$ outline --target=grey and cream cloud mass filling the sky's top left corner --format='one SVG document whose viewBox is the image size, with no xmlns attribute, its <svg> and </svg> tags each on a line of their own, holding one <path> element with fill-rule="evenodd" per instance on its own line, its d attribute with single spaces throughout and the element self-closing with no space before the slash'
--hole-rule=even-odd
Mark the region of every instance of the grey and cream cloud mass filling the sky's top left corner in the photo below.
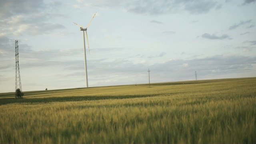
<svg viewBox="0 0 256 144">
<path fill-rule="evenodd" d="M 56 6 L 61 2 L 44 3 L 42 0 L 8 0 L 0 2 L 0 33 L 4 35 L 38 35 L 51 34 L 54 30 L 65 29 L 62 24 L 51 22 L 52 18 L 60 17 L 54 14 Z M 3 35 L 3 34 L 2 34 Z"/>
</svg>

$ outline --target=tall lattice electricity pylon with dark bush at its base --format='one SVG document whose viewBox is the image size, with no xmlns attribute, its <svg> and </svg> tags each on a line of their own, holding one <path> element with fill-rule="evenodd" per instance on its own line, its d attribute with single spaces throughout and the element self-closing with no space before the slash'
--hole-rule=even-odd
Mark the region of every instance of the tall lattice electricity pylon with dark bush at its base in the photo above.
<svg viewBox="0 0 256 144">
<path fill-rule="evenodd" d="M 15 57 L 16 57 L 16 80 L 15 80 L 15 98 L 22 98 L 22 88 L 20 81 L 20 66 L 19 66 L 19 46 L 18 40 L 15 40 Z"/>
</svg>

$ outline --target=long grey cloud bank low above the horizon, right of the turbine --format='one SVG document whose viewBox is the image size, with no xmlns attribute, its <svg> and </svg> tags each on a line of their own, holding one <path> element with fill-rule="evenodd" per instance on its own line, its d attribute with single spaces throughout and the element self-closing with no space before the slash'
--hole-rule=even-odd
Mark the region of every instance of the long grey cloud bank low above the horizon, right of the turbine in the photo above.
<svg viewBox="0 0 256 144">
<path fill-rule="evenodd" d="M 145 65 L 146 60 L 143 59 L 140 64 L 102 64 L 100 72 L 104 71 L 106 76 L 108 74 L 114 73 L 116 78 L 119 74 L 127 76 L 127 74 L 132 73 L 136 79 L 131 80 L 128 77 L 125 81 L 127 83 L 133 84 L 143 83 L 141 78 L 143 78 L 144 75 L 140 77 L 138 76 L 140 74 L 145 74 L 146 78 L 145 72 L 148 70 L 148 68 L 151 70 L 150 75 L 152 74 L 152 82 L 163 82 L 194 79 L 195 70 L 198 72 L 200 79 L 209 79 L 209 76 L 215 76 L 216 78 L 226 74 L 237 74 L 236 76 L 240 77 L 240 72 L 251 72 L 251 74 L 254 73 L 253 70 L 255 68 L 252 66 L 253 62 L 256 62 L 256 57 L 216 55 L 192 60 L 169 60 L 164 63 L 155 63 L 148 66 Z M 97 66 L 95 66 L 95 68 L 96 67 Z M 96 75 L 98 74 L 98 72 L 92 73 L 96 73 Z M 117 78 L 116 82 L 118 83 L 119 80 L 120 79 Z"/>
</svg>

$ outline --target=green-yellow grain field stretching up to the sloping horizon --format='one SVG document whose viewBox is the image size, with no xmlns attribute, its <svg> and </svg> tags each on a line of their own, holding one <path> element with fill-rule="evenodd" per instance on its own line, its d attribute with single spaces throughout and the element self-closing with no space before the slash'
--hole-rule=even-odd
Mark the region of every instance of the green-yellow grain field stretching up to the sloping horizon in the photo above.
<svg viewBox="0 0 256 144">
<path fill-rule="evenodd" d="M 0 94 L 5 143 L 256 143 L 256 78 Z"/>
</svg>

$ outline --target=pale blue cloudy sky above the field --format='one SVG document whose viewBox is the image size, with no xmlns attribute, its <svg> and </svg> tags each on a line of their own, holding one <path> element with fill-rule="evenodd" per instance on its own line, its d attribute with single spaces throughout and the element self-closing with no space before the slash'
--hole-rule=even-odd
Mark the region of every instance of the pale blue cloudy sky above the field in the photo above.
<svg viewBox="0 0 256 144">
<path fill-rule="evenodd" d="M 256 76 L 256 0 L 1 0 L 0 92 Z"/>
</svg>

